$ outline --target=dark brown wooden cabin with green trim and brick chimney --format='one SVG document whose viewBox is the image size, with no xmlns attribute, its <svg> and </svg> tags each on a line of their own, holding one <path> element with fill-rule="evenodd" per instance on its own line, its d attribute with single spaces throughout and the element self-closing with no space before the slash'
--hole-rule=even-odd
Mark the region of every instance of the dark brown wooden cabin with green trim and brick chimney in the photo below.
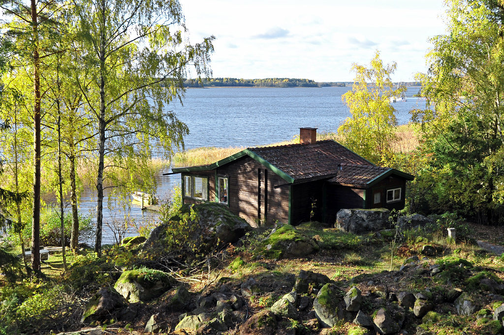
<svg viewBox="0 0 504 335">
<path fill-rule="evenodd" d="M 172 171 L 181 174 L 184 204 L 220 203 L 253 225 L 296 225 L 310 217 L 332 225 L 344 208 L 400 210 L 406 181 L 413 180 L 336 141 L 317 142 L 317 128 L 300 128 L 299 144 L 247 148 L 213 164 Z"/>
</svg>

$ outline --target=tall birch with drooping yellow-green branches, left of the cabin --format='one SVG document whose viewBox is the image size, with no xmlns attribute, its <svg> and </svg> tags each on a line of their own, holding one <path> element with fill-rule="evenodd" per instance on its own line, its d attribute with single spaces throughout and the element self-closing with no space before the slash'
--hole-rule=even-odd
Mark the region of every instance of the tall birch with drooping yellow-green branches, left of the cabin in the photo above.
<svg viewBox="0 0 504 335">
<path fill-rule="evenodd" d="M 154 147 L 169 155 L 183 145 L 187 126 L 166 110 L 183 96 L 183 80 L 209 75 L 213 36 L 187 39 L 176 0 L 86 0 L 75 3 L 87 74 L 76 78 L 94 119 L 99 145 L 95 251 L 101 253 L 103 190 L 107 166 L 129 166 L 148 158 Z M 122 185 L 124 186 L 124 185 Z"/>
</svg>

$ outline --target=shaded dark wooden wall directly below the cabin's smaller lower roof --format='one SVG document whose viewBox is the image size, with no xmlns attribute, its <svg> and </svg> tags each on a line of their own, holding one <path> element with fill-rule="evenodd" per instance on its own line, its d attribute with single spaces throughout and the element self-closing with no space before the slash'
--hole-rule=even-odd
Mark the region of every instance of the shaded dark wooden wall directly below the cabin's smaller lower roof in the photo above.
<svg viewBox="0 0 504 335">
<path fill-rule="evenodd" d="M 327 203 L 324 222 L 334 225 L 336 222 L 336 213 L 341 209 L 363 208 L 364 189 L 329 183 L 327 183 L 326 187 Z"/>
</svg>

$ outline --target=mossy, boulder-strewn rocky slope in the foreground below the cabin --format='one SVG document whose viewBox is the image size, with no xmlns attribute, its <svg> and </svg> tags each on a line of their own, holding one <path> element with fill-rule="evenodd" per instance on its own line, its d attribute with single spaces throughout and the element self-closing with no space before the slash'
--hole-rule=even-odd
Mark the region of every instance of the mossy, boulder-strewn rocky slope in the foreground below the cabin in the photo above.
<svg viewBox="0 0 504 335">
<path fill-rule="evenodd" d="M 78 332 L 503 334 L 504 256 L 414 226 L 279 226 L 230 244 L 200 280 L 124 271 Z"/>
</svg>

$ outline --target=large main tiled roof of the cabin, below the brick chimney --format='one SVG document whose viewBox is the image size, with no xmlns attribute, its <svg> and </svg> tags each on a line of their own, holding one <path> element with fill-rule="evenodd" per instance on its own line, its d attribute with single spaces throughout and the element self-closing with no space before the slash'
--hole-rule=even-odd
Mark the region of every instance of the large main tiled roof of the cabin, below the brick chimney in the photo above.
<svg viewBox="0 0 504 335">
<path fill-rule="evenodd" d="M 371 165 L 359 155 L 332 140 L 314 144 L 248 148 L 248 150 L 294 178 L 295 182 L 336 176 L 341 172 L 339 170 L 341 163 Z"/>
</svg>

